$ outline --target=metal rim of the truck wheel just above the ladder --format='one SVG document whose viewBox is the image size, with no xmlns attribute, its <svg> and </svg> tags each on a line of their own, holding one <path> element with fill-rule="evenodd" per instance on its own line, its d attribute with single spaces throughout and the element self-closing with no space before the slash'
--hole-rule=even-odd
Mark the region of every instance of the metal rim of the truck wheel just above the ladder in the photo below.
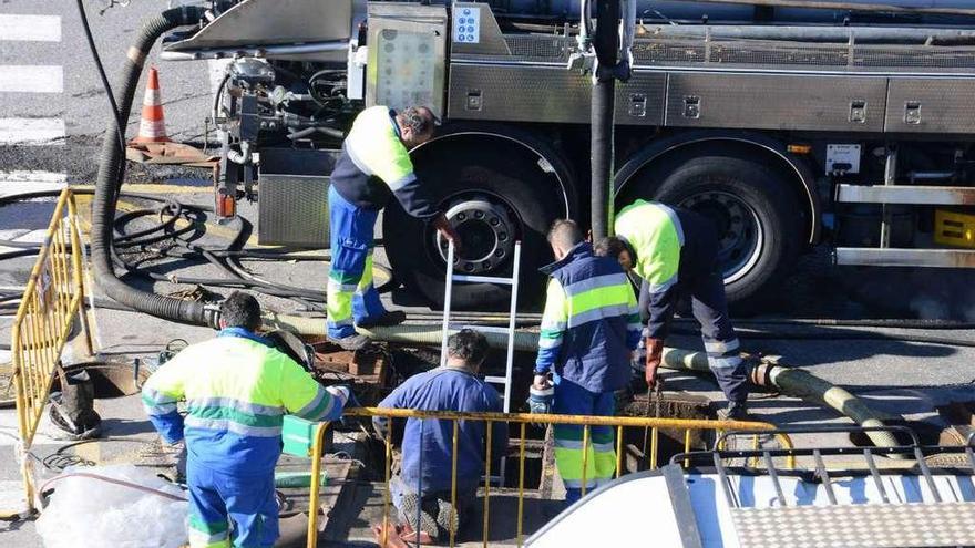
<svg viewBox="0 0 975 548">
<path fill-rule="evenodd" d="M 483 275 L 497 269 L 514 254 L 519 221 L 514 210 L 501 198 L 488 194 L 468 194 L 445 203 L 445 216 L 463 244 L 454 256 L 454 270 Z M 447 240 L 433 235 L 441 260 L 447 262 Z"/>
</svg>

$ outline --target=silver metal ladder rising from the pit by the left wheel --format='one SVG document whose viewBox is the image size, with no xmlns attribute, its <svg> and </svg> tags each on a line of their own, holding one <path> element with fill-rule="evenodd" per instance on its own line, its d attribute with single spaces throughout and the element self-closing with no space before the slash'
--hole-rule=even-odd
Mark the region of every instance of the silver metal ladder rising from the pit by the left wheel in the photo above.
<svg viewBox="0 0 975 548">
<path fill-rule="evenodd" d="M 444 275 L 444 290 L 443 290 L 443 328 L 442 332 L 442 341 L 440 345 L 440 365 L 447 365 L 447 340 L 450 338 L 450 334 L 460 329 L 473 329 L 483 333 L 499 333 L 507 337 L 507 349 L 505 353 L 505 362 L 504 362 L 504 375 L 485 375 L 484 382 L 494 385 L 496 387 L 501 387 L 499 392 L 501 392 L 502 397 L 502 411 L 504 413 L 511 412 L 511 384 L 512 384 L 512 375 L 514 369 L 514 330 L 517 321 L 517 296 L 519 296 L 519 276 L 521 273 L 521 258 L 522 258 L 522 242 L 515 241 L 514 244 L 514 256 L 513 256 L 513 265 L 511 271 L 511 278 L 505 277 L 495 277 L 495 276 L 474 276 L 466 273 L 458 273 L 454 271 L 454 257 L 456 254 L 456 249 L 454 248 L 453 242 L 450 242 L 447 248 L 447 272 Z M 509 319 L 507 327 L 496 327 L 496 325 L 473 325 L 465 324 L 463 322 L 452 322 L 451 321 L 451 302 L 453 296 L 453 285 L 454 283 L 494 283 L 494 285 L 503 285 L 511 287 L 511 303 L 509 309 Z M 501 459 L 501 466 L 499 467 L 499 475 L 491 476 L 492 482 L 503 482 L 504 478 L 504 468 L 505 468 L 505 459 Z"/>
</svg>

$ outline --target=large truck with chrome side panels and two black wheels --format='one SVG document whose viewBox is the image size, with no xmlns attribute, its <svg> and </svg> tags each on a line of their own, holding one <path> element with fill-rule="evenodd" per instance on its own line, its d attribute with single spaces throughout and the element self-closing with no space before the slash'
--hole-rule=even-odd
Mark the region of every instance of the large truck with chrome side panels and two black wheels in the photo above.
<svg viewBox="0 0 975 548">
<path fill-rule="evenodd" d="M 327 176 L 372 104 L 444 118 L 412 154 L 464 237 L 459 270 L 510 275 L 521 240 L 533 272 L 550 258 L 548 224 L 586 218 L 579 2 L 206 3 L 162 55 L 227 64 L 211 114 L 224 142 L 217 209 L 233 215 L 259 180 L 261 241 L 326 245 Z M 773 294 L 821 240 L 840 263 L 975 267 L 975 18 L 855 3 L 864 10 L 637 2 L 634 74 L 616 92 L 617 205 L 656 198 L 714 218 L 740 304 Z M 432 229 L 390 207 L 383 237 L 399 278 L 442 299 Z M 541 278 L 525 276 L 524 294 L 537 294 Z M 488 285 L 455 296 L 506 299 Z"/>
</svg>

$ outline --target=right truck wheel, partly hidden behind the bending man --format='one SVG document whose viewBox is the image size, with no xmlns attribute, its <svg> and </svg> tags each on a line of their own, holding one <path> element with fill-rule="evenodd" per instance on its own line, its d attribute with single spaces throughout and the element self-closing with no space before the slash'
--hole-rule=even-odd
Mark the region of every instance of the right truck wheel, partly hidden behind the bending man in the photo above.
<svg viewBox="0 0 975 548">
<path fill-rule="evenodd" d="M 725 290 L 735 310 L 767 308 L 801 246 L 801 208 L 788 182 L 756 161 L 720 155 L 673 158 L 648 175 L 659 184 L 645 177 L 638 194 L 715 221 Z"/>
</svg>

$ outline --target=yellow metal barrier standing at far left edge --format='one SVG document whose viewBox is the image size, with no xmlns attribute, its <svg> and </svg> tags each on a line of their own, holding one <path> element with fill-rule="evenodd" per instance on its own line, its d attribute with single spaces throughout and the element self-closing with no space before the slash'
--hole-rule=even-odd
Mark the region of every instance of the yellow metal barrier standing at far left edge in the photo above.
<svg viewBox="0 0 975 548">
<path fill-rule="evenodd" d="M 21 473 L 28 510 L 33 509 L 33 478 L 27 455 L 75 314 L 80 317 L 91 351 L 90 331 L 82 311 L 84 281 L 76 214 L 74 195 L 65 188 L 54 206 L 43 246 L 11 327 L 17 420 L 23 456 Z"/>
</svg>

